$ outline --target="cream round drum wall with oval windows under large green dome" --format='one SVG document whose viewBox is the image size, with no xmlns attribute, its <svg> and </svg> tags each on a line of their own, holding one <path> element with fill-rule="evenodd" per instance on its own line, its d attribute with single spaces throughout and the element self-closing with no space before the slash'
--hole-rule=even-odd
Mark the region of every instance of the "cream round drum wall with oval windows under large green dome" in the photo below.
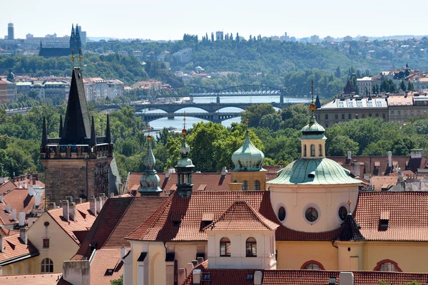
<svg viewBox="0 0 428 285">
<path fill-rule="evenodd" d="M 347 201 L 352 201 L 351 211 L 355 209 L 358 187 L 349 185 L 270 185 L 270 201 L 275 214 L 280 206 L 285 207 L 286 216 L 282 224 L 302 232 L 326 232 L 340 227 L 342 220 L 338 215 L 341 206 L 348 209 Z M 318 219 L 309 222 L 305 210 L 314 207 Z"/>
</svg>

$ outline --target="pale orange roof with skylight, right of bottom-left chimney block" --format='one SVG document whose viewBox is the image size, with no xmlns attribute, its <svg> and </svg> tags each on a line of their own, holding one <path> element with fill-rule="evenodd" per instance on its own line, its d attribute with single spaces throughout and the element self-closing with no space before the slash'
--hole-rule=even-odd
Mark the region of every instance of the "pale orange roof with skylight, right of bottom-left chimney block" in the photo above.
<svg viewBox="0 0 428 285">
<path fill-rule="evenodd" d="M 98 249 L 96 251 L 91 261 L 91 285 L 110 284 L 111 280 L 121 278 L 122 274 L 121 249 Z"/>
</svg>

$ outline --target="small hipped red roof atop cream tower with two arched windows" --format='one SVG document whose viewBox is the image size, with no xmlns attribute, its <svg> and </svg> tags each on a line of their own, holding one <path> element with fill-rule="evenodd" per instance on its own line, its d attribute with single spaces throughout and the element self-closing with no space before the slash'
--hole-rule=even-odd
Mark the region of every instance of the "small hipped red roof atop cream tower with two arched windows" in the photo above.
<svg viewBox="0 0 428 285">
<path fill-rule="evenodd" d="M 272 231 L 278 224 L 263 217 L 245 201 L 234 202 L 213 224 L 205 227 L 210 231 Z"/>
</svg>

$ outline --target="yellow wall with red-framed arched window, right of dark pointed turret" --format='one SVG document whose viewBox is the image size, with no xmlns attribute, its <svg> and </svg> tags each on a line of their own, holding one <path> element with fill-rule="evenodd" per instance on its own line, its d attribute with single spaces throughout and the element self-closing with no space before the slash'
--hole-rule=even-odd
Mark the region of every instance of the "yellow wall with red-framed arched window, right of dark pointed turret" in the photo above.
<svg viewBox="0 0 428 285">
<path fill-rule="evenodd" d="M 362 270 L 373 270 L 384 259 L 397 262 L 403 272 L 427 272 L 428 242 L 365 242 Z"/>
</svg>

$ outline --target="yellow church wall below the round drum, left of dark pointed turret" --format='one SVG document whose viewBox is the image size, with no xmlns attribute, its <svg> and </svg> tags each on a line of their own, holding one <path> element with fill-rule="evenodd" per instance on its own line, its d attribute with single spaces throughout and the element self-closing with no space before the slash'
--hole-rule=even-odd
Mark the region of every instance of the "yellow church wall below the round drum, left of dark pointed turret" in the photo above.
<svg viewBox="0 0 428 285">
<path fill-rule="evenodd" d="M 325 270 L 337 270 L 337 249 L 332 242 L 276 242 L 277 269 L 300 269 L 315 260 Z"/>
</svg>

